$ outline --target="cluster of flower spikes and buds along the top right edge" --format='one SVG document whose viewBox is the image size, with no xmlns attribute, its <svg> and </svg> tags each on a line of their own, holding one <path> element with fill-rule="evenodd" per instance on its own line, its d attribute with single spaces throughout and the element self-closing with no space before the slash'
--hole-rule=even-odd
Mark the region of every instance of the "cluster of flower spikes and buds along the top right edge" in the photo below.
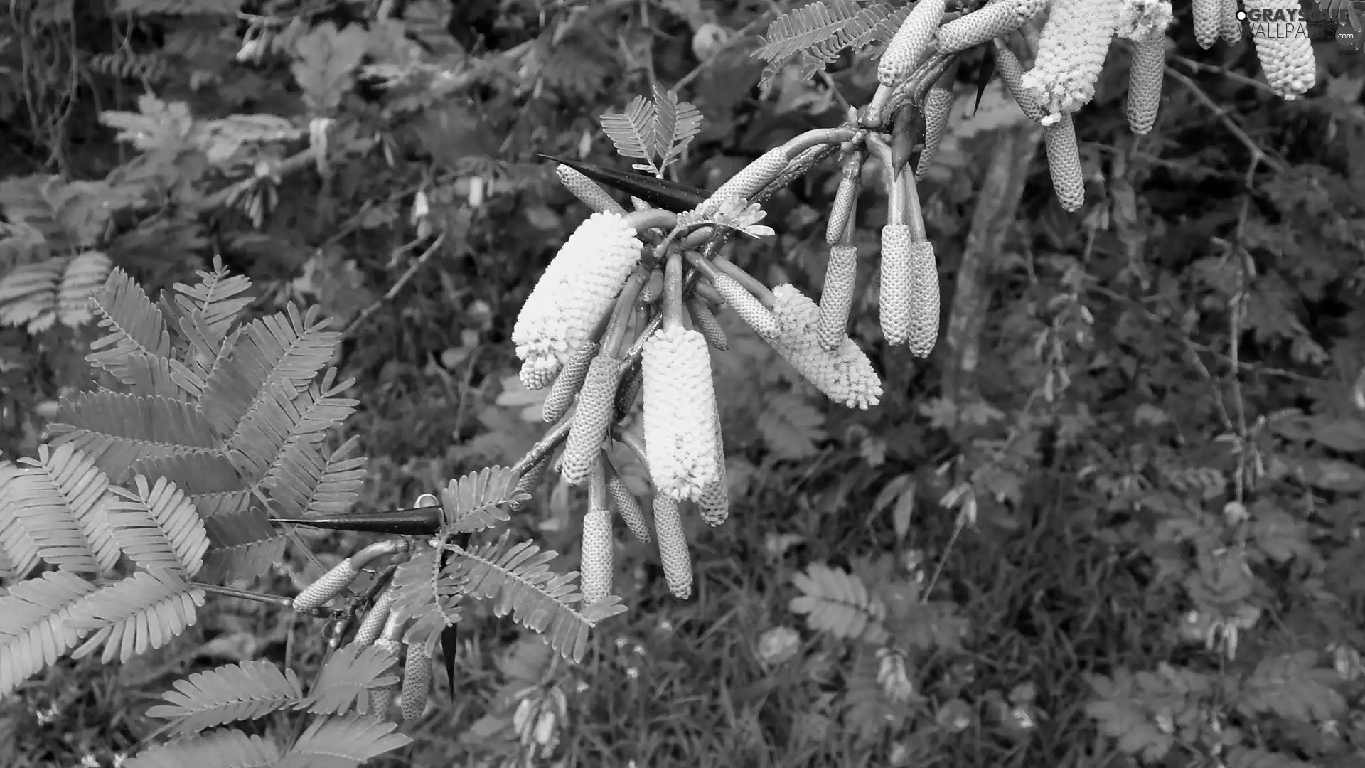
<svg viewBox="0 0 1365 768">
<path fill-rule="evenodd" d="M 1246 8 L 1298 8 L 1298 0 L 1244 0 Z M 1241 40 L 1237 0 L 1194 0 L 1194 34 L 1200 45 L 1219 38 Z M 1035 33 L 1028 23 L 1046 20 Z M 1095 96 L 1095 83 L 1114 37 L 1130 45 L 1127 120 L 1136 134 L 1156 123 L 1166 67 L 1166 30 L 1170 0 L 987 0 L 976 10 L 946 12 L 943 0 L 919 0 L 887 44 L 878 63 L 879 87 L 864 126 L 875 127 L 908 101 L 923 113 L 924 148 L 916 175 L 923 176 L 947 126 L 953 105 L 951 83 L 957 57 L 976 45 L 991 44 L 1005 89 L 1031 120 L 1043 126 L 1052 189 L 1067 210 L 1085 201 L 1073 113 Z M 1291 15 L 1267 15 L 1284 18 Z M 1287 23 L 1287 22 L 1284 22 Z M 1314 83 L 1312 42 L 1280 22 L 1254 27 L 1256 52 L 1271 89 L 1297 98 Z M 1276 29 L 1271 29 L 1276 27 Z M 1036 52 L 1025 70 L 1021 53 Z M 1029 56 L 1022 56 L 1028 60 Z M 925 82 L 932 87 L 924 98 Z"/>
</svg>

